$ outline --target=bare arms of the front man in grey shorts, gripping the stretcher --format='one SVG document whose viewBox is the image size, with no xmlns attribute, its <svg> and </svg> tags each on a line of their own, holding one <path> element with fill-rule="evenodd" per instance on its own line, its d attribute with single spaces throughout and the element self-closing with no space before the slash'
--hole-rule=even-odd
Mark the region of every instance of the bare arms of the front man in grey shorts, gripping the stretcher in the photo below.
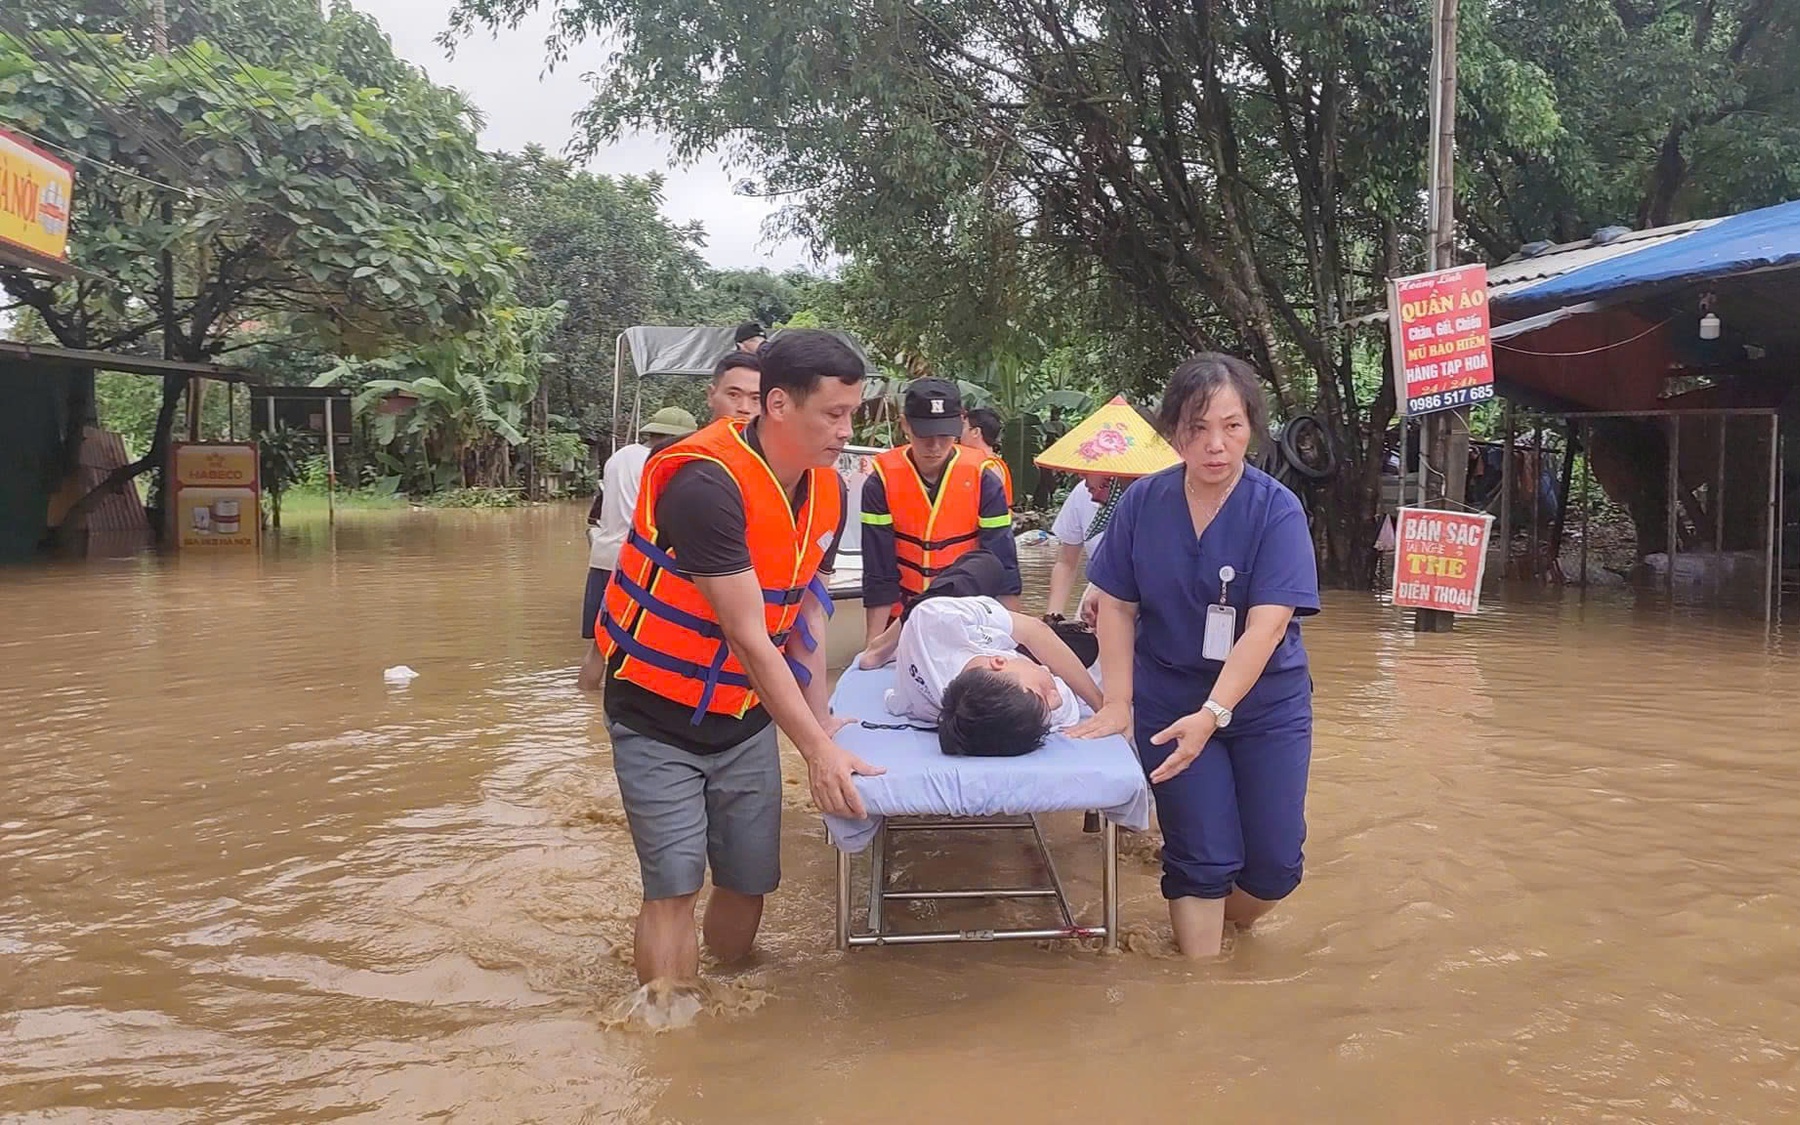
<svg viewBox="0 0 1800 1125">
<path fill-rule="evenodd" d="M 769 715 L 776 720 L 799 756 L 806 760 L 806 779 L 812 787 L 812 801 L 819 812 L 835 817 L 862 819 L 868 810 L 857 794 L 857 774 L 873 778 L 887 770 L 869 765 L 832 736 L 848 725 L 850 718 L 841 718 L 826 709 L 826 668 L 824 668 L 824 607 L 812 594 L 801 603 L 801 616 L 819 644 L 810 652 L 796 652 L 794 657 L 812 673 L 812 682 L 801 689 L 788 668 L 787 657 L 769 639 L 769 626 L 763 619 L 763 590 L 756 585 L 754 571 L 724 576 L 693 576 L 695 589 L 713 607 L 718 628 L 725 634 L 731 655 L 738 657 L 743 671 L 751 677 L 751 686 L 761 697 Z"/>
</svg>

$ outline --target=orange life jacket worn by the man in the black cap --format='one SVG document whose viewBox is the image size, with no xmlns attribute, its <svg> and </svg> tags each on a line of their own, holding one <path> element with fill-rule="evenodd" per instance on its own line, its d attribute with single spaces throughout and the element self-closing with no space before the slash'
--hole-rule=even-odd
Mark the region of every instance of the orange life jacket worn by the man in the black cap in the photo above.
<svg viewBox="0 0 1800 1125">
<path fill-rule="evenodd" d="M 950 450 L 936 500 L 905 446 L 875 457 L 875 473 L 893 517 L 900 590 L 916 598 L 940 571 L 979 545 L 981 454 L 961 445 Z"/>
</svg>

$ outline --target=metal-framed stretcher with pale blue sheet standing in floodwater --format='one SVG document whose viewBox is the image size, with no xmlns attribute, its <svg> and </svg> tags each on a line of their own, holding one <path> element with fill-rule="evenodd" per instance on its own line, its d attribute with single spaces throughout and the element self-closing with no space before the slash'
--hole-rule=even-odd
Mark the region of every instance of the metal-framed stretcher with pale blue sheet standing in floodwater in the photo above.
<svg viewBox="0 0 1800 1125">
<path fill-rule="evenodd" d="M 837 850 L 837 949 L 853 945 L 927 945 L 940 941 L 1003 941 L 1100 938 L 1118 947 L 1118 830 L 1150 826 L 1150 788 L 1130 743 L 1120 736 L 1076 740 L 1051 734 L 1021 758 L 950 758 L 936 731 L 902 727 L 882 704 L 893 668 L 851 666 L 832 691 L 832 713 L 855 716 L 837 742 L 887 772 L 857 778 L 864 819 L 824 817 Z M 896 729 L 898 727 L 898 729 Z M 1040 814 L 1100 814 L 1102 920 L 1075 918 L 1055 859 L 1044 841 Z M 911 832 L 1028 832 L 1042 860 L 1044 882 L 1010 887 L 891 886 L 893 837 Z M 851 909 L 855 857 L 868 851 L 868 913 L 859 927 Z M 956 929 L 902 932 L 889 923 L 887 904 L 932 900 L 1035 898 L 1049 902 L 1058 923 L 1035 929 Z"/>
</svg>

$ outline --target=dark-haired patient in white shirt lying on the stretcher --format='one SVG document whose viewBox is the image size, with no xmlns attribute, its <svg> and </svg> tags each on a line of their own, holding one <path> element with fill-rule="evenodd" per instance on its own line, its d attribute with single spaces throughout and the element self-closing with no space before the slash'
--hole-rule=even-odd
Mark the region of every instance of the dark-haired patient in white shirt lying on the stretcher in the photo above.
<svg viewBox="0 0 1800 1125">
<path fill-rule="evenodd" d="M 859 657 L 862 668 L 895 662 L 887 711 L 936 724 L 945 754 L 1030 754 L 1080 722 L 1082 704 L 1100 707 L 1080 657 L 1051 626 L 995 601 L 999 589 L 999 560 L 972 551 Z"/>
</svg>

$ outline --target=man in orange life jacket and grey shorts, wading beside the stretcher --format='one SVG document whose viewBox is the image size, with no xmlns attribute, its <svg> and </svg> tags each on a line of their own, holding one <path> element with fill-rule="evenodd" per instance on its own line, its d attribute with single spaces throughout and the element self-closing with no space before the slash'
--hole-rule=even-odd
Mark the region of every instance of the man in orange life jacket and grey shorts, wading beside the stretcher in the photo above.
<svg viewBox="0 0 1800 1125">
<path fill-rule="evenodd" d="M 761 418 L 716 419 L 644 466 L 632 533 L 596 630 L 625 815 L 643 871 L 643 983 L 700 970 L 695 902 L 707 864 L 706 945 L 751 952 L 781 878 L 787 733 L 821 810 L 864 815 L 826 711 L 824 576 L 844 527 L 835 472 L 862 401 L 862 360 L 823 331 L 761 353 Z"/>
</svg>

